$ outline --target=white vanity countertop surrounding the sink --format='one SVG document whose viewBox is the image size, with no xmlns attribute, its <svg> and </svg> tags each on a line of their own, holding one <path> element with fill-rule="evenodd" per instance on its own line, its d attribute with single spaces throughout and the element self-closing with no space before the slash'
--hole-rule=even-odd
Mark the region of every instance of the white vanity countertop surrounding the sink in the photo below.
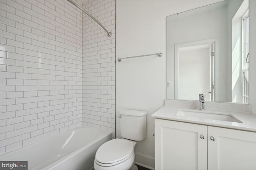
<svg viewBox="0 0 256 170">
<path fill-rule="evenodd" d="M 178 116 L 176 115 L 180 109 L 190 110 L 190 111 L 198 111 L 200 113 L 216 113 L 216 114 L 225 114 L 232 115 L 232 117 L 239 119 L 242 123 L 231 122 L 231 121 L 220 121 L 213 119 L 204 119 L 203 117 L 188 117 L 188 116 Z M 199 109 L 192 109 L 186 107 L 172 107 L 172 106 L 164 106 L 160 108 L 158 111 L 151 115 L 157 119 L 166 119 L 172 121 L 182 121 L 187 123 L 196 123 L 201 125 L 210 125 L 217 127 L 225 127 L 231 129 L 238 129 L 244 131 L 254 131 L 256 132 L 256 115 L 253 113 L 243 113 L 243 112 L 234 112 L 234 111 L 218 111 L 218 110 L 206 110 L 200 111 Z"/>
</svg>

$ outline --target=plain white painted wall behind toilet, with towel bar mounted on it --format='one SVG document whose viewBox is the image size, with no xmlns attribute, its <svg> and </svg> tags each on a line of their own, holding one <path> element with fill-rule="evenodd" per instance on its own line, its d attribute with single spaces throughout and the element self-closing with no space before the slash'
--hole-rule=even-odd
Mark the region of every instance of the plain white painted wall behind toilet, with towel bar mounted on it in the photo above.
<svg viewBox="0 0 256 170">
<path fill-rule="evenodd" d="M 138 142 L 136 162 L 154 168 L 152 113 L 166 99 L 166 16 L 219 0 L 116 0 L 116 59 L 162 52 L 163 56 L 116 61 L 116 116 L 120 109 L 148 112 L 146 139 Z M 186 5 L 184 5 L 186 4 Z M 116 137 L 120 138 L 116 117 Z"/>
</svg>

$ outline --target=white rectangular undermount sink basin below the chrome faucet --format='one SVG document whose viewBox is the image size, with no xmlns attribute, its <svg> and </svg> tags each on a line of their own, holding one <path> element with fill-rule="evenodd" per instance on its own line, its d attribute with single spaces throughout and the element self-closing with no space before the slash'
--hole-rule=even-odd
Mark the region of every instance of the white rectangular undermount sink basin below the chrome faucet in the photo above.
<svg viewBox="0 0 256 170">
<path fill-rule="evenodd" d="M 180 109 L 176 115 L 182 116 L 182 117 L 196 117 L 196 118 L 200 118 L 200 119 L 212 119 L 212 120 L 221 120 L 221 121 L 231 121 L 231 122 L 242 123 L 242 121 L 236 119 L 232 115 L 218 114 L 218 113 L 212 113 L 212 112 L 200 111 L 200 110 L 196 111 L 196 110 Z"/>
</svg>

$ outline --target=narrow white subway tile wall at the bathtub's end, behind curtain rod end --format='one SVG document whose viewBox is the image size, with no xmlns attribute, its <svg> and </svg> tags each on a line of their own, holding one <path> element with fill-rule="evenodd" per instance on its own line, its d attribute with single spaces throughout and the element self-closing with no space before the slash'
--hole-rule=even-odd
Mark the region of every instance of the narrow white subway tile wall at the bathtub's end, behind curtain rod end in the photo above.
<svg viewBox="0 0 256 170">
<path fill-rule="evenodd" d="M 106 29 L 83 14 L 82 124 L 115 137 L 115 0 L 88 0 L 83 8 Z"/>
</svg>

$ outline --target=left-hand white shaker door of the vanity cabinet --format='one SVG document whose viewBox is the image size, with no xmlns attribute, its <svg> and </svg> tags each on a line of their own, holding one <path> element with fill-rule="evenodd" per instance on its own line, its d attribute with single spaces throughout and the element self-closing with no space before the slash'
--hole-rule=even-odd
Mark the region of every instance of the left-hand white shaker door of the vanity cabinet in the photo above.
<svg viewBox="0 0 256 170">
<path fill-rule="evenodd" d="M 207 170 L 206 137 L 204 125 L 155 119 L 155 169 Z"/>
</svg>

